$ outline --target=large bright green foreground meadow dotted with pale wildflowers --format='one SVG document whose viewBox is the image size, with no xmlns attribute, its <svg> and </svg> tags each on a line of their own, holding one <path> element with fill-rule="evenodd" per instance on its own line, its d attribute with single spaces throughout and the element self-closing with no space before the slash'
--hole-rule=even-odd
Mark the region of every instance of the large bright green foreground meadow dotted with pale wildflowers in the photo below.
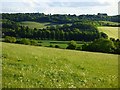
<svg viewBox="0 0 120 90">
<path fill-rule="evenodd" d="M 118 87 L 118 55 L 2 45 L 3 88 Z"/>
</svg>

